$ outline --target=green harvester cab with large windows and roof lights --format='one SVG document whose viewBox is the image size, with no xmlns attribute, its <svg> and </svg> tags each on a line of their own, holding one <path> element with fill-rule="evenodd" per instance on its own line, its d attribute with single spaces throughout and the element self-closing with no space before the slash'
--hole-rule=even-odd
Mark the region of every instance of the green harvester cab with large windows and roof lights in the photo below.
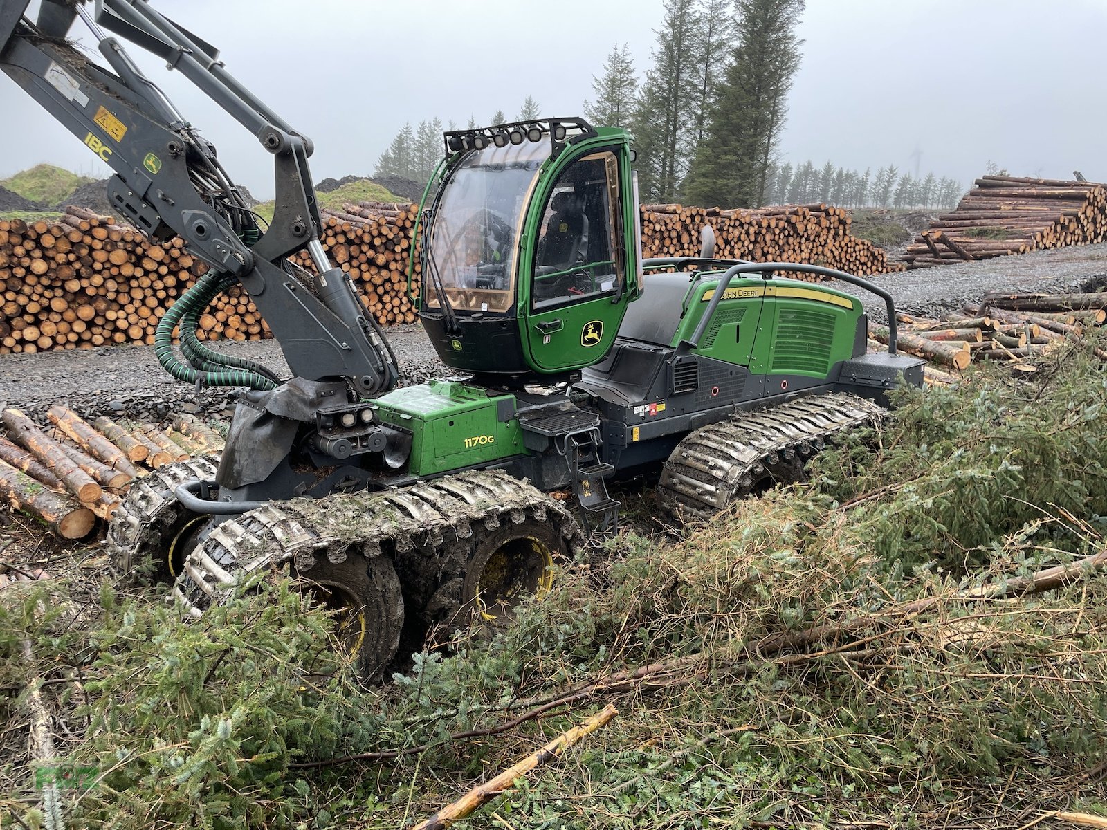
<svg viewBox="0 0 1107 830">
<path fill-rule="evenodd" d="M 579 378 L 640 292 L 630 136 L 560 118 L 445 141 L 420 298 L 438 356 L 489 383 Z"/>
</svg>

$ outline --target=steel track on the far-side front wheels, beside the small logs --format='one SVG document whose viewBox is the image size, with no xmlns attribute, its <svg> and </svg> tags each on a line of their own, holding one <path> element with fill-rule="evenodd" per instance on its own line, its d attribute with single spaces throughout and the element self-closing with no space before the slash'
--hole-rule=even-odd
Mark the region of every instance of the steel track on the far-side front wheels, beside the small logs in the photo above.
<svg viewBox="0 0 1107 830">
<path fill-rule="evenodd" d="M 162 562 L 176 526 L 187 512 L 174 491 L 185 481 L 215 478 L 218 465 L 218 456 L 196 456 L 166 464 L 132 483 L 112 516 L 105 541 L 121 572 Z"/>
</svg>

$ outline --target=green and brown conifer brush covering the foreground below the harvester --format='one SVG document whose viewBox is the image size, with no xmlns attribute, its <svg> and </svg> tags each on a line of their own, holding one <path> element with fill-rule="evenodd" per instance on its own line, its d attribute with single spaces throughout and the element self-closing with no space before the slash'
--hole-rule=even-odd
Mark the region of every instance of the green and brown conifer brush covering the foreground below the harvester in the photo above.
<svg viewBox="0 0 1107 830">
<path fill-rule="evenodd" d="M 342 618 L 294 582 L 186 622 L 164 587 L 17 542 L 0 807 L 15 827 L 411 827 L 614 704 L 468 826 L 1101 827 L 1103 369 L 1069 343 L 1028 380 L 984 373 L 904 391 L 879 436 L 685 539 L 649 531 L 643 496 L 638 533 L 495 636 L 413 643 L 380 686 L 349 679 Z"/>
</svg>

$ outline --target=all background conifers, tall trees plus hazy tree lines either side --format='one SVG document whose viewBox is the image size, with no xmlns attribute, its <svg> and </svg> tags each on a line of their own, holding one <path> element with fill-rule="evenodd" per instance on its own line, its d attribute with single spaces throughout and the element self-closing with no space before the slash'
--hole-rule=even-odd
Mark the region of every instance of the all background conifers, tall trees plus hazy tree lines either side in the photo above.
<svg viewBox="0 0 1107 830">
<path fill-rule="evenodd" d="M 795 33 L 806 0 L 664 0 L 641 81 L 615 42 L 583 102 L 591 123 L 634 134 L 642 201 L 757 207 L 824 201 L 842 207 L 952 207 L 959 183 L 915 178 L 893 165 L 871 175 L 827 163 L 782 164 L 777 145 L 799 66 Z M 528 96 L 515 121 L 537 118 Z M 497 110 L 490 124 L 505 123 Z M 469 127 L 476 126 L 469 118 Z M 453 123 L 451 129 L 456 128 Z M 442 122 L 405 124 L 374 176 L 425 183 L 442 158 Z"/>
</svg>

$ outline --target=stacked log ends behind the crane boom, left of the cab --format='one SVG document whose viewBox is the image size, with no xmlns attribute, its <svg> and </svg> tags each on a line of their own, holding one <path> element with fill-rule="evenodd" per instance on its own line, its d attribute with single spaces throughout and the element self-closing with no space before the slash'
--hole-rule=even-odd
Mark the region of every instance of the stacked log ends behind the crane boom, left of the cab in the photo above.
<svg viewBox="0 0 1107 830">
<path fill-rule="evenodd" d="M 328 214 L 322 241 L 384 325 L 410 323 L 412 205 L 359 203 Z M 301 264 L 308 266 L 307 258 Z M 0 354 L 153 344 L 165 312 L 206 267 L 179 239 L 149 242 L 134 228 L 70 207 L 56 222 L 0 220 Z M 418 287 L 416 267 L 415 290 Z M 241 289 L 200 318 L 200 340 L 259 340 L 268 326 Z"/>
</svg>

